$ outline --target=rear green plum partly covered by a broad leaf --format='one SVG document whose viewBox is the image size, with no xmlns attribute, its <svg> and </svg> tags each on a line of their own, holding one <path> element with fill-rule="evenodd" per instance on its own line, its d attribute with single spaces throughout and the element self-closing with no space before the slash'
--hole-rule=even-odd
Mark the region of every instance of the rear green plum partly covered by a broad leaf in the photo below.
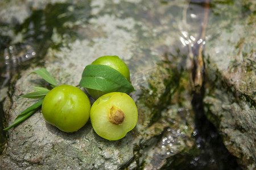
<svg viewBox="0 0 256 170">
<path fill-rule="evenodd" d="M 97 58 L 92 62 L 92 65 L 105 65 L 110 66 L 113 69 L 119 71 L 125 78 L 130 82 L 130 71 L 127 67 L 126 63 L 122 61 L 118 56 L 102 56 Z M 86 88 L 86 91 L 92 96 L 94 99 L 98 99 L 98 97 L 106 94 L 100 90 L 93 90 L 90 88 Z"/>
</svg>

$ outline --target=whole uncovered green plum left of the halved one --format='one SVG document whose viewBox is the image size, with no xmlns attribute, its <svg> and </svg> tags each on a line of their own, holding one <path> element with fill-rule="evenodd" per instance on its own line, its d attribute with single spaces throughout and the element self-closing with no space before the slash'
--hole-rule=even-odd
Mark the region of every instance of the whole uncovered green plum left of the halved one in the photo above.
<svg viewBox="0 0 256 170">
<path fill-rule="evenodd" d="M 80 88 L 63 84 L 53 88 L 44 97 L 44 119 L 62 131 L 77 131 L 90 116 L 90 101 Z"/>
</svg>

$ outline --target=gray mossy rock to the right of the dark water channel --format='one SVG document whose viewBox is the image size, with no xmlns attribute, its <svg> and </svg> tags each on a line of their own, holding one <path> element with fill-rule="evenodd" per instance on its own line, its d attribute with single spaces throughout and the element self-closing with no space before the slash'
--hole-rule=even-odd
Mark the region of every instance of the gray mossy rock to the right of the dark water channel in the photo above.
<svg viewBox="0 0 256 170">
<path fill-rule="evenodd" d="M 241 8 L 246 8 L 246 14 Z M 213 13 L 222 12 L 223 16 L 213 15 L 217 20 L 213 27 L 219 31 L 205 49 L 206 114 L 220 131 L 226 148 L 245 169 L 256 167 L 254 10 L 255 3 L 247 1 L 213 8 Z"/>
</svg>

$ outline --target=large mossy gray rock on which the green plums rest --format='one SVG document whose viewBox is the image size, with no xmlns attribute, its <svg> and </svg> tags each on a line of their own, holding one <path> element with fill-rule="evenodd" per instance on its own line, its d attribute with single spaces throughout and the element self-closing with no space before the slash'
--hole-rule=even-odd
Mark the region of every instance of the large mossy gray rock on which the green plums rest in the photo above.
<svg viewBox="0 0 256 170">
<path fill-rule="evenodd" d="M 32 71 L 45 67 L 57 83 L 76 86 L 84 67 L 104 55 L 117 55 L 129 66 L 131 82 L 137 90 L 131 96 L 138 107 L 139 121 L 125 138 L 107 141 L 93 131 L 90 121 L 75 133 L 64 133 L 47 124 L 37 111 L 7 132 L 8 142 L 0 156 L 1 169 L 160 168 L 171 156 L 194 145 L 191 96 L 184 90 L 189 89 L 189 82 L 181 64 L 184 57 L 178 57 L 176 49 L 168 48 L 176 43 L 177 35 L 167 29 L 174 18 L 162 14 L 162 8 L 172 4 L 145 2 L 88 1 L 89 6 L 84 1 L 5 4 L 6 11 L 14 11 L 11 17 L 20 15 L 17 16 L 20 38 L 15 38 L 15 32 L 11 31 L 6 31 L 6 35 L 13 37 L 13 43 L 29 42 L 39 58 L 39 65 L 32 63 L 27 69 L 13 73 L 19 78 L 10 80 L 14 89 L 3 102 L 7 125 L 35 102 L 18 96 L 33 91 L 32 86 L 48 87 L 38 75 L 30 74 Z M 21 14 L 18 9 L 24 7 L 27 10 Z M 60 11 L 52 11 L 54 8 Z M 65 20 L 66 17 L 71 20 Z M 44 18 L 53 22 L 40 25 Z M 34 27 L 36 24 L 39 28 Z"/>
</svg>

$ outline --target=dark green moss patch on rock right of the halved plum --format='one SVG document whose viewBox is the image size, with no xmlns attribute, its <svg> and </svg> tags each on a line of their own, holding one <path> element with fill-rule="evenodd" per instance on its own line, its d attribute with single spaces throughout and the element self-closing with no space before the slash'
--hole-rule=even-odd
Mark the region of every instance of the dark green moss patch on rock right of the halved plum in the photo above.
<svg viewBox="0 0 256 170">
<path fill-rule="evenodd" d="M 177 58 L 176 58 L 177 59 Z M 185 79 L 187 73 L 178 69 L 175 61 L 163 60 L 158 62 L 155 71 L 148 75 L 149 88 L 142 87 L 141 101 L 150 109 L 150 125 L 157 122 L 161 117 L 161 112 L 171 103 L 183 103 L 184 97 L 181 97 L 188 84 Z M 148 113 L 148 112 L 147 112 Z"/>
</svg>

